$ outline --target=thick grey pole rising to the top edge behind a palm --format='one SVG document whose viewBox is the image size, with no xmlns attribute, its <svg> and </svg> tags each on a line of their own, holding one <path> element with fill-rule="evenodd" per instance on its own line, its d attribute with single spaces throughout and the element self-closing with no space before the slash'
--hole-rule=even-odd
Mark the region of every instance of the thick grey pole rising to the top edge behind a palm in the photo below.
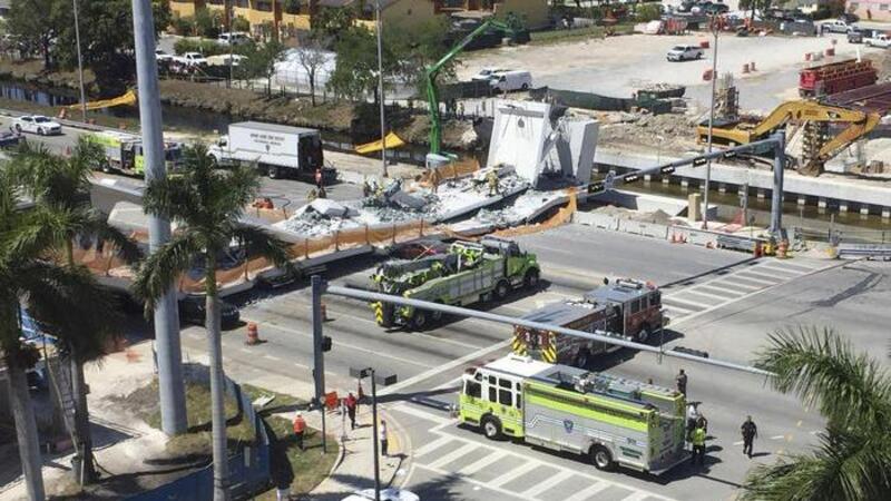
<svg viewBox="0 0 891 501">
<path fill-rule="evenodd" d="M 160 120 L 158 63 L 155 59 L 155 20 L 151 0 L 133 0 L 136 78 L 139 87 L 139 122 L 143 132 L 146 183 L 167 176 L 164 166 L 164 132 Z M 149 216 L 150 252 L 170 239 L 170 222 Z M 179 345 L 179 314 L 174 284 L 155 307 L 155 344 L 158 351 L 160 424 L 164 433 L 186 431 L 186 396 L 183 385 L 183 354 Z"/>
</svg>

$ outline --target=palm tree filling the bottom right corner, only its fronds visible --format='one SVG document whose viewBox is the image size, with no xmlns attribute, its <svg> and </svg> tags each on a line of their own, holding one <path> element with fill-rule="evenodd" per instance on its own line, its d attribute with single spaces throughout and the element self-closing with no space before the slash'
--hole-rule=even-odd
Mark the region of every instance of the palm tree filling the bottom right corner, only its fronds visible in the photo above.
<svg viewBox="0 0 891 501">
<path fill-rule="evenodd" d="M 891 492 L 891 377 L 830 328 L 771 335 L 757 365 L 826 419 L 820 445 L 753 469 L 743 499 L 880 500 Z"/>
</svg>

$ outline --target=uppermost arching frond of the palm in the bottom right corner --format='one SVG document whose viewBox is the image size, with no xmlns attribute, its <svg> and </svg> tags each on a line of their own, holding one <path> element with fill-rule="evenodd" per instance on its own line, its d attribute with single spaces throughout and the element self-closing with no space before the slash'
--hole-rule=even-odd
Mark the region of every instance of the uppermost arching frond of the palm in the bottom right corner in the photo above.
<svg viewBox="0 0 891 501">
<path fill-rule="evenodd" d="M 855 354 L 832 330 L 786 328 L 770 336 L 755 364 L 774 373 L 770 382 L 815 405 L 830 422 L 873 426 L 891 418 L 891 383 L 865 354 Z"/>
</svg>

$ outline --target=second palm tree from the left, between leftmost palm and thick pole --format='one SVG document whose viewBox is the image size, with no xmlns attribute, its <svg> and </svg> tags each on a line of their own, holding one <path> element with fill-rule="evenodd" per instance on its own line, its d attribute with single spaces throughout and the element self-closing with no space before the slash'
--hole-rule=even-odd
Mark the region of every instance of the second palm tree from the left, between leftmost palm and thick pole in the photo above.
<svg viewBox="0 0 891 501">
<path fill-rule="evenodd" d="M 42 210 L 37 214 L 50 219 L 40 226 L 40 230 L 49 238 L 49 245 L 63 250 L 65 262 L 70 269 L 77 267 L 74 254 L 76 238 L 107 242 L 119 249 L 121 257 L 129 263 L 141 257 L 136 243 L 110 226 L 106 217 L 90 205 L 89 178 L 94 167 L 101 165 L 104 159 L 101 147 L 81 137 L 68 158 L 51 154 L 45 146 L 25 146 L 7 165 L 25 193 L 40 204 Z M 117 318 L 105 320 L 108 322 L 101 323 L 97 318 L 97 331 L 85 331 L 84 324 L 76 322 L 59 333 L 70 365 L 75 400 L 75 429 L 71 434 L 79 464 L 75 464 L 71 471 L 75 481 L 82 483 L 96 479 L 84 364 L 104 355 L 106 342 L 117 334 Z"/>
</svg>

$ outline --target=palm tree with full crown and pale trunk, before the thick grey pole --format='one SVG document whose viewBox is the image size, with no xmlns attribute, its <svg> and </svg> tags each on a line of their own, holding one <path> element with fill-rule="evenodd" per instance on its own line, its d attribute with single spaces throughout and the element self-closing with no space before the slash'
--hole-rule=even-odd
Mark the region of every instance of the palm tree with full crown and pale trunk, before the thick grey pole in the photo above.
<svg viewBox="0 0 891 501">
<path fill-rule="evenodd" d="M 262 256 L 276 266 L 290 267 L 287 244 L 265 230 L 241 222 L 244 208 L 260 189 L 252 167 L 217 170 L 204 146 L 186 148 L 183 173 L 153 179 L 146 187 L 145 210 L 175 222 L 170 240 L 149 255 L 137 272 L 134 293 L 146 302 L 146 311 L 194 265 L 203 266 L 206 295 L 208 353 L 210 358 L 210 411 L 214 454 L 214 500 L 228 499 L 228 461 L 224 403 L 221 310 L 216 281 L 219 256 L 233 242 L 245 258 Z"/>
</svg>

